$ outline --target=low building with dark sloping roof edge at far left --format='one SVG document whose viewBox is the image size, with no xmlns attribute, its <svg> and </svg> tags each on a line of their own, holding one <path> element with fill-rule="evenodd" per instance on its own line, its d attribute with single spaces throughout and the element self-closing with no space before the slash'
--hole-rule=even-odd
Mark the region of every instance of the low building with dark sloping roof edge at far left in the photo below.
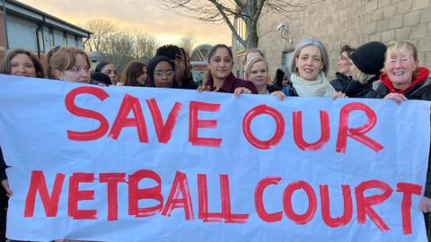
<svg viewBox="0 0 431 242">
<path fill-rule="evenodd" d="M 0 57 L 13 48 L 38 56 L 56 46 L 84 48 L 92 32 L 15 0 L 0 1 Z"/>
</svg>

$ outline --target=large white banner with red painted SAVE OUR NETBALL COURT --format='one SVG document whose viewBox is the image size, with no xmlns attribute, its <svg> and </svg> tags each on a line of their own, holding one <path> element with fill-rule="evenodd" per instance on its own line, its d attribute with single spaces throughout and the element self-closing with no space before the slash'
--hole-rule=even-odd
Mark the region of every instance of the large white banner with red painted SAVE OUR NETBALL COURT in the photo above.
<svg viewBox="0 0 431 242">
<path fill-rule="evenodd" d="M 426 241 L 425 101 L 0 76 L 7 237 Z"/>
</svg>

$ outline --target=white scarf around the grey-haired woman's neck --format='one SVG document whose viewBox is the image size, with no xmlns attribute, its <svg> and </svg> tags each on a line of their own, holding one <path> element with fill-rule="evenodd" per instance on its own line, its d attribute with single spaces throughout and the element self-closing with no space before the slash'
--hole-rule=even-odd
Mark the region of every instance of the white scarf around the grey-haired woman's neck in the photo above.
<svg viewBox="0 0 431 242">
<path fill-rule="evenodd" d="M 294 85 L 295 91 L 299 97 L 332 97 L 335 90 L 326 80 L 325 73 L 321 72 L 316 78 L 316 81 L 307 81 L 292 73 L 290 80 Z"/>
</svg>

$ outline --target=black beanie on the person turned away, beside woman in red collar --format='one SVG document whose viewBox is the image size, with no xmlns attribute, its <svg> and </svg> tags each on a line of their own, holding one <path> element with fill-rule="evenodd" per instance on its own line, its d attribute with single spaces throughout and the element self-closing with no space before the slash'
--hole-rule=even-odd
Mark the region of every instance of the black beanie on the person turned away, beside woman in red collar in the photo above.
<svg viewBox="0 0 431 242">
<path fill-rule="evenodd" d="M 386 46 L 381 42 L 369 42 L 348 54 L 359 71 L 366 74 L 380 73 L 384 66 Z"/>
</svg>

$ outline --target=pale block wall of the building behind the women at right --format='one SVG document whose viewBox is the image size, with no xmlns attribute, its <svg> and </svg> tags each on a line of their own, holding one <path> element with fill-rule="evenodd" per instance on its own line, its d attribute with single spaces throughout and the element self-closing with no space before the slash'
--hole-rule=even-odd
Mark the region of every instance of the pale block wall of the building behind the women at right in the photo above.
<svg viewBox="0 0 431 242">
<path fill-rule="evenodd" d="M 288 28 L 285 39 L 276 30 L 280 22 Z M 282 64 L 283 52 L 292 51 L 306 37 L 327 45 L 330 78 L 342 44 L 357 47 L 372 40 L 385 44 L 409 40 L 418 48 L 419 65 L 431 67 L 431 0 L 326 0 L 298 13 L 263 13 L 258 24 L 259 49 L 266 53 L 272 76 Z M 237 69 L 243 68 L 242 56 L 235 58 Z"/>
</svg>

